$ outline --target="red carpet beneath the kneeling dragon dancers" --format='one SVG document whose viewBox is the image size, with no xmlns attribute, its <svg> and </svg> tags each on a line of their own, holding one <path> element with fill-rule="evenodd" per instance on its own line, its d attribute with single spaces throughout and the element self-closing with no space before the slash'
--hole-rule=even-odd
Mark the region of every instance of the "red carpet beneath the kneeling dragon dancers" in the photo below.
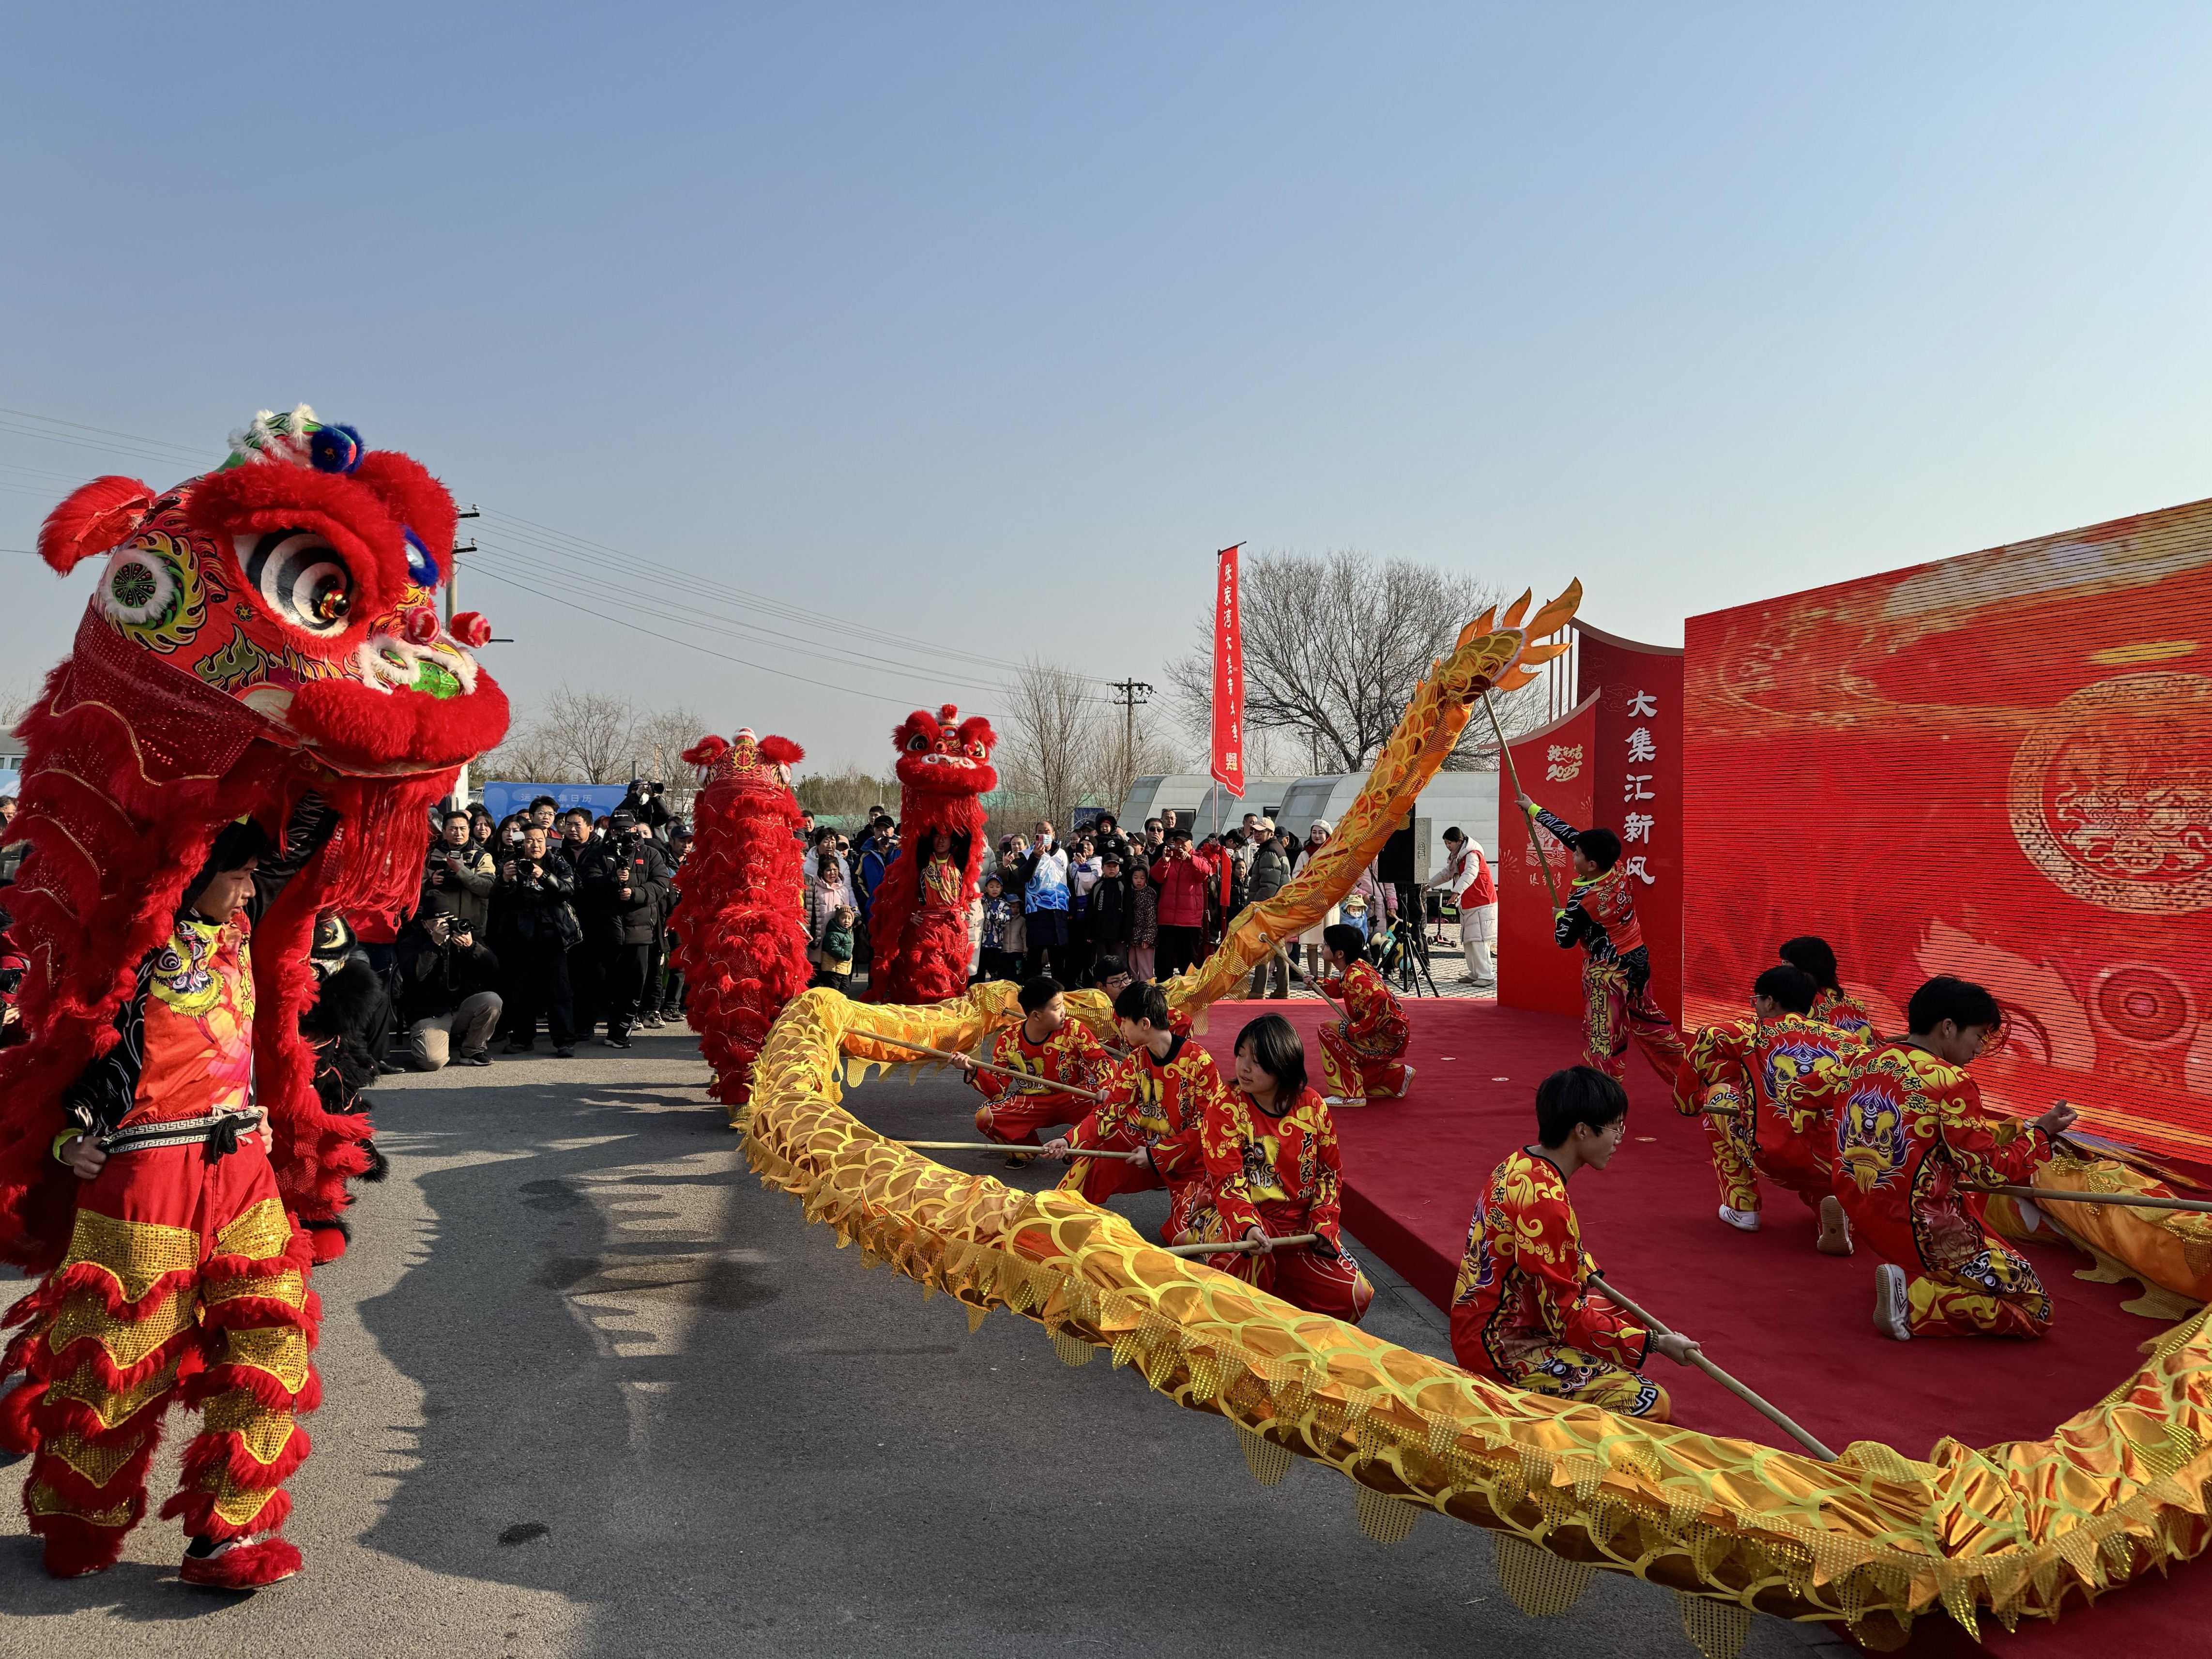
<svg viewBox="0 0 2212 1659">
<path fill-rule="evenodd" d="M 1416 1068 L 1400 1102 L 1340 1110 L 1345 1228 L 1433 1303 L 1449 1305 L 1467 1243 L 1467 1221 L 1491 1168 L 1535 1139 L 1535 1086 L 1582 1055 L 1575 1022 L 1493 1002 L 1409 1000 Z M 1327 1009 L 1312 1000 L 1272 1002 L 1307 1035 Z M 1212 1009 L 1206 1046 L 1228 1071 L 1230 1044 L 1254 1002 Z M 1765 1228 L 1741 1234 L 1714 1214 L 1719 1192 L 1694 1119 L 1674 1115 L 1668 1091 L 1641 1055 L 1628 1073 L 1628 1144 L 1608 1170 L 1575 1177 L 1582 1237 L 1619 1287 L 1703 1345 L 1708 1356 L 1767 1396 L 1838 1451 L 1885 1440 L 1909 1458 L 1951 1433 L 1966 1444 L 2039 1440 L 2093 1407 L 2141 1360 L 2137 1347 L 2161 1327 L 2126 1312 L 2126 1285 L 2075 1279 L 2086 1259 L 2066 1245 L 2028 1245 L 2057 1321 L 2039 1343 L 1916 1340 L 1874 1332 L 1874 1263 L 1814 1252 L 1812 1212 L 1787 1192 L 1767 1192 Z M 1765 1418 L 1701 1371 L 1655 1363 L 1674 1396 L 1674 1420 L 1708 1433 L 1790 1444 Z M 2075 1655 L 2090 1644 L 2159 1644 L 2194 1650 L 2212 1621 L 2212 1577 L 2188 1566 L 2170 1582 L 2141 1582 L 2093 1613 L 2006 1637 L 1984 1630 L 1993 1652 Z M 1913 1652 L 1964 1652 L 1949 1619 L 1924 1619 Z M 1949 1632 L 1949 1635 L 1947 1635 Z"/>
</svg>

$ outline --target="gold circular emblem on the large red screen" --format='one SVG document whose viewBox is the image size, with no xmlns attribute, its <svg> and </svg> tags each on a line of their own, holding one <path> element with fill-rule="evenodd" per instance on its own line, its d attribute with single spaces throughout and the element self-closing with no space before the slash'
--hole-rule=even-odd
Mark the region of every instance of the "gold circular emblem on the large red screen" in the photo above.
<svg viewBox="0 0 2212 1659">
<path fill-rule="evenodd" d="M 2013 754 L 2013 836 L 2075 898 L 2212 909 L 2212 679 L 2121 675 L 2062 701 Z"/>
</svg>

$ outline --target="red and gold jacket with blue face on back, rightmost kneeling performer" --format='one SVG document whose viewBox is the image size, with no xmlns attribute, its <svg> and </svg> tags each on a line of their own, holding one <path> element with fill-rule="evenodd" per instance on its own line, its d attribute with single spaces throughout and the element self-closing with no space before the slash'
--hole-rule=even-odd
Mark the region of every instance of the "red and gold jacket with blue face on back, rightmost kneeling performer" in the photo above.
<svg viewBox="0 0 2212 1659">
<path fill-rule="evenodd" d="M 1889 1261 L 1953 1274 L 1989 1250 L 1966 1188 L 2026 1186 L 2051 1137 L 2020 1117 L 1982 1110 L 1962 1066 L 1909 1042 L 1858 1057 L 1836 1108 L 1836 1197 L 1851 1225 Z"/>
</svg>

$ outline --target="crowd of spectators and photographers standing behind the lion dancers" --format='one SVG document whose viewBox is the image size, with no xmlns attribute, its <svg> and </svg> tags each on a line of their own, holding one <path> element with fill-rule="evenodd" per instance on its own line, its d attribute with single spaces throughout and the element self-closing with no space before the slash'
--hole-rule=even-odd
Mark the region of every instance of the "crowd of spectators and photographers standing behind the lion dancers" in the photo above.
<svg viewBox="0 0 2212 1659">
<path fill-rule="evenodd" d="M 13 796 L 0 794 L 0 825 L 13 810 Z M 1172 812 L 1130 834 L 1108 812 L 1064 843 L 1040 818 L 1029 834 L 984 849 L 969 975 L 1051 975 L 1071 987 L 1170 978 L 1201 962 L 1237 911 L 1279 894 L 1332 836 L 1323 821 L 1301 841 L 1256 812 L 1203 838 Z M 810 814 L 801 838 L 814 984 L 865 987 L 867 916 L 898 856 L 898 823 L 876 805 L 847 836 Z M 445 810 L 414 911 L 325 918 L 336 945 L 319 942 L 319 953 L 361 960 L 383 984 L 387 1006 L 369 1046 L 385 1071 L 489 1066 L 495 1051 L 526 1055 L 540 1037 L 562 1060 L 586 1040 L 628 1048 L 635 1031 L 681 1018 L 684 975 L 670 969 L 668 947 L 681 927 L 688 849 L 690 830 L 657 783 L 633 783 L 606 816 L 564 812 L 553 796 L 498 821 L 482 803 Z M 0 849 L 0 885 L 20 856 L 22 845 Z M 1369 867 L 1290 945 L 1292 960 L 1270 956 L 1252 971 L 1250 995 L 1290 995 L 1294 975 L 1318 975 L 1325 927 L 1347 922 L 1374 938 L 1396 907 L 1396 889 Z M 0 1040 L 20 978 L 22 962 L 0 931 Z"/>
</svg>

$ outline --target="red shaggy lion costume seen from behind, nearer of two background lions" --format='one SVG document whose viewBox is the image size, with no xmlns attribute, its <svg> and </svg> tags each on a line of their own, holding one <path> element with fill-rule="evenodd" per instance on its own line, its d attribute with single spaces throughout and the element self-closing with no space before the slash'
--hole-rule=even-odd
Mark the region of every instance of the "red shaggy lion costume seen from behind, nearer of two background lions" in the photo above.
<svg viewBox="0 0 2212 1659">
<path fill-rule="evenodd" d="M 703 737 L 684 759 L 706 770 L 684 858 L 675 964 L 690 987 L 686 1018 L 714 1068 L 723 1106 L 752 1099 L 752 1062 L 783 1004 L 807 989 L 801 812 L 792 768 L 805 750 L 787 737 L 734 743 Z"/>
</svg>

